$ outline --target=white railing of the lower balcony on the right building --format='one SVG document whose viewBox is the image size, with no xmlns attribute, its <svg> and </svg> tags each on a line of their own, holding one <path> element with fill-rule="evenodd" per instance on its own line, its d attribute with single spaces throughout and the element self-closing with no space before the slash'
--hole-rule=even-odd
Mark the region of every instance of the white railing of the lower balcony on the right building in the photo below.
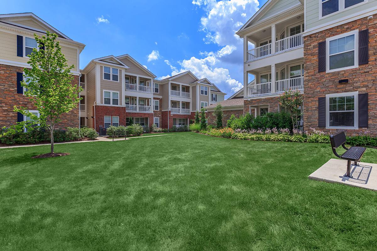
<svg viewBox="0 0 377 251">
<path fill-rule="evenodd" d="M 268 96 L 284 93 L 285 91 L 302 91 L 304 89 L 304 78 L 290 78 L 266 82 L 248 87 L 248 97 Z"/>
</svg>

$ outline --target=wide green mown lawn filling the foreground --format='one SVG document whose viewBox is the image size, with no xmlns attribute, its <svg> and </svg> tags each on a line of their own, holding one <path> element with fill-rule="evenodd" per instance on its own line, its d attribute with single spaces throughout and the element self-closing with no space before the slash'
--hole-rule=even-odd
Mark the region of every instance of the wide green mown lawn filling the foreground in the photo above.
<svg viewBox="0 0 377 251">
<path fill-rule="evenodd" d="M 326 144 L 181 132 L 55 149 L 71 155 L 0 149 L 0 250 L 376 250 L 377 193 L 308 179 Z"/>
</svg>

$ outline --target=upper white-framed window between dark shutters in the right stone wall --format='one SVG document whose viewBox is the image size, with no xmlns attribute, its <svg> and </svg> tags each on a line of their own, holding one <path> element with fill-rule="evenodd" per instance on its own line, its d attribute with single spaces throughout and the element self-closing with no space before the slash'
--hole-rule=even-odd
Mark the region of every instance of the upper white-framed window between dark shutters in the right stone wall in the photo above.
<svg viewBox="0 0 377 251">
<path fill-rule="evenodd" d="M 326 72 L 359 67 L 359 31 L 326 39 Z"/>
</svg>

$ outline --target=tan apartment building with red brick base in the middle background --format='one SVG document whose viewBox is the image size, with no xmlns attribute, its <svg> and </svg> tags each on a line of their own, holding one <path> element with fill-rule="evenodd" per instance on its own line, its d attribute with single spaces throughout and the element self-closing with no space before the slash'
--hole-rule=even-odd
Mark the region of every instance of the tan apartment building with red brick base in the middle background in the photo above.
<svg viewBox="0 0 377 251">
<path fill-rule="evenodd" d="M 80 123 L 105 134 L 110 125 L 189 125 L 196 110 L 224 100 L 208 79 L 190 71 L 157 80 L 130 55 L 96 58 L 81 70 Z"/>
</svg>

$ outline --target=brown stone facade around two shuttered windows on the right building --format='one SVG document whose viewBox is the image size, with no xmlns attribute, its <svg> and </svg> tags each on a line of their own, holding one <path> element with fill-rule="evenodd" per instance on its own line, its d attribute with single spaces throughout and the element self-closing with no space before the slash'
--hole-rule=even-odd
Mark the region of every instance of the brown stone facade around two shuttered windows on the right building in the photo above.
<svg viewBox="0 0 377 251">
<path fill-rule="evenodd" d="M 318 43 L 352 30 L 369 29 L 369 63 L 357 68 L 332 73 L 318 72 Z M 357 48 L 356 48 L 357 49 Z M 361 18 L 331 29 L 323 30 L 304 37 L 304 129 L 318 127 L 318 97 L 326 94 L 359 91 L 368 93 L 368 128 L 347 129 L 348 134 L 369 131 L 377 135 L 377 19 Z M 339 84 L 339 79 L 348 83 Z M 322 131 L 336 129 L 319 128 Z"/>
</svg>

